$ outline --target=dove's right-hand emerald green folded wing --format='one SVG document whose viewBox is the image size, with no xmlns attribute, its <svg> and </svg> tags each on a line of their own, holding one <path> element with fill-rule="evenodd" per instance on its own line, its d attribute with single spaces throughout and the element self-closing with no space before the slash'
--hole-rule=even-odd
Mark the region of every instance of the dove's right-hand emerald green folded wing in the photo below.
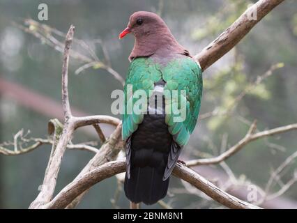
<svg viewBox="0 0 297 223">
<path fill-rule="evenodd" d="M 165 122 L 169 126 L 169 132 L 174 136 L 174 141 L 179 146 L 185 146 L 188 143 L 190 134 L 192 134 L 201 105 L 202 94 L 202 71 L 199 65 L 191 58 L 174 59 L 166 67 L 162 68 L 162 78 L 167 83 L 165 90 L 171 92 L 165 94 Z M 174 100 L 172 91 L 178 91 L 178 101 Z M 180 92 L 184 90 L 185 92 Z M 186 106 L 186 117 L 184 121 L 176 122 L 173 107 L 178 109 Z"/>
</svg>

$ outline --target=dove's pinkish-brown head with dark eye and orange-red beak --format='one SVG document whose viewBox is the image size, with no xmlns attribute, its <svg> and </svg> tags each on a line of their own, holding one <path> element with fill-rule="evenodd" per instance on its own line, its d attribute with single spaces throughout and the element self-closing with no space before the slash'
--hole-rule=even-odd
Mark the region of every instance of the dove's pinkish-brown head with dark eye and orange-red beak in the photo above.
<svg viewBox="0 0 297 223">
<path fill-rule="evenodd" d="M 160 32 L 162 29 L 167 30 L 167 26 L 159 15 L 139 11 L 130 16 L 128 26 L 120 33 L 119 38 L 123 38 L 128 33 L 132 33 L 135 38 L 140 38 Z"/>
</svg>

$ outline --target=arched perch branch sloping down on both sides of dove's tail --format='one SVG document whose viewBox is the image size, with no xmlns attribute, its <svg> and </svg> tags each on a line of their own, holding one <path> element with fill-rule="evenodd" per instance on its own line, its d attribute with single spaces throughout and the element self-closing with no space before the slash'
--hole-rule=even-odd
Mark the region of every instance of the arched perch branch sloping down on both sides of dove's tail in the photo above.
<svg viewBox="0 0 297 223">
<path fill-rule="evenodd" d="M 84 174 L 81 178 L 68 184 L 63 188 L 63 190 L 61 190 L 61 192 L 59 192 L 59 194 L 56 195 L 56 197 L 54 197 L 52 201 L 50 201 L 50 203 L 45 205 L 45 208 L 65 208 L 68 203 L 75 199 L 75 197 L 78 197 L 79 194 L 85 190 L 88 190 L 92 185 L 95 185 L 101 180 L 122 173 L 125 171 L 125 168 L 125 161 L 107 162 L 102 166 Z M 195 171 L 192 171 L 192 169 L 189 169 L 188 167 L 185 167 L 181 164 L 176 164 L 173 174 L 174 176 L 194 185 L 215 201 L 218 201 L 229 208 L 259 208 L 245 201 L 241 201 L 230 194 L 227 194 L 205 178 L 199 176 L 199 174 L 197 174 Z"/>
</svg>

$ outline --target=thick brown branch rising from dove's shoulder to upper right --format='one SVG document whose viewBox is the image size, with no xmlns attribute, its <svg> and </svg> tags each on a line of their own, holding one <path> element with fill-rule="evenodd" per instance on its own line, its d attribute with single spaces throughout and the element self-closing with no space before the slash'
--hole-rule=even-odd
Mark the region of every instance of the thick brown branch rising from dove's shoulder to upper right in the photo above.
<svg viewBox="0 0 297 223">
<path fill-rule="evenodd" d="M 212 43 L 205 47 L 195 56 L 204 71 L 215 61 L 218 61 L 224 54 L 227 54 L 248 32 L 273 8 L 284 0 L 259 0 L 253 6 L 245 10 L 245 13 L 231 24 Z M 257 12 L 257 20 L 252 20 L 251 15 Z"/>
</svg>

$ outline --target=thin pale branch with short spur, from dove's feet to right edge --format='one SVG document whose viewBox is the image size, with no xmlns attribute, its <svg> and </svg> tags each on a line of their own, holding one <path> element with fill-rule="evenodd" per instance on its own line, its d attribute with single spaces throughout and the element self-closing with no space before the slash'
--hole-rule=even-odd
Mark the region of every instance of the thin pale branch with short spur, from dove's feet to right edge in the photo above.
<svg viewBox="0 0 297 223">
<path fill-rule="evenodd" d="M 263 137 L 272 136 L 274 134 L 280 134 L 280 133 L 288 132 L 288 131 L 291 131 L 291 130 L 297 130 L 297 123 L 282 126 L 282 127 L 279 127 L 279 128 L 273 128 L 271 130 L 265 130 L 265 131 L 262 131 L 262 132 L 254 133 L 254 130 L 255 130 L 256 127 L 257 127 L 256 123 L 255 122 L 252 123 L 252 125 L 250 127 L 250 130 L 245 135 L 245 137 L 243 139 L 241 139 L 241 141 L 238 141 L 238 143 L 236 145 L 232 146 L 231 148 L 229 148 L 229 150 L 222 153 L 218 157 L 211 157 L 211 158 L 198 159 L 198 160 L 190 160 L 188 162 L 185 162 L 185 164 L 188 167 L 193 167 L 193 166 L 197 166 L 197 165 L 218 164 L 218 163 L 222 162 L 223 160 L 226 160 L 227 158 L 231 157 L 231 155 L 234 155 L 234 153 L 237 153 L 238 151 L 240 151 L 241 148 L 243 148 L 244 146 L 249 144 L 251 141 L 254 141 L 256 139 L 261 139 Z"/>
</svg>

